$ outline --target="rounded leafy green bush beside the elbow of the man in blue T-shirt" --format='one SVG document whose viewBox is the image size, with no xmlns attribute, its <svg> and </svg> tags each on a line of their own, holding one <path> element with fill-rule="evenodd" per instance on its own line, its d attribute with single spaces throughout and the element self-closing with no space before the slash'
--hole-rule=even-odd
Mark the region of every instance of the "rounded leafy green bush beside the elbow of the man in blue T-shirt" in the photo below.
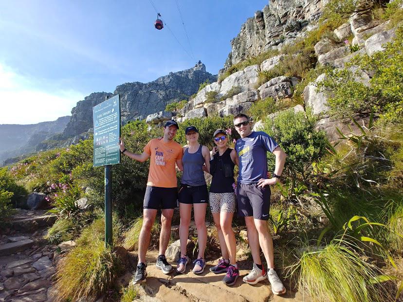
<svg viewBox="0 0 403 302">
<path fill-rule="evenodd" d="M 287 154 L 285 172 L 290 176 L 300 173 L 306 175 L 313 161 L 327 153 L 329 142 L 326 133 L 316 131 L 317 117 L 311 110 L 295 113 L 293 109 L 284 110 L 272 121 L 266 119 L 263 131 L 275 139 Z M 269 157 L 269 167 L 274 170 L 275 159 Z M 269 169 L 269 171 L 270 171 Z"/>
</svg>

